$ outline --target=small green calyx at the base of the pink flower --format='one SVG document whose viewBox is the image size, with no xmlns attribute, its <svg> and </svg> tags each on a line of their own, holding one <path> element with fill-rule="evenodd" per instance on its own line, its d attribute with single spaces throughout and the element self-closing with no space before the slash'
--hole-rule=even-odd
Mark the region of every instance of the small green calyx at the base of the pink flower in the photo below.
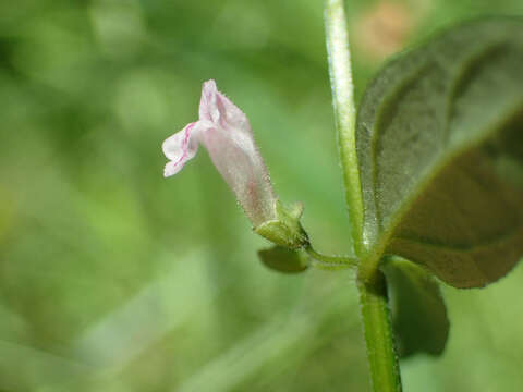
<svg viewBox="0 0 523 392">
<path fill-rule="evenodd" d="M 288 248 L 300 248 L 308 244 L 307 233 L 300 223 L 303 205 L 294 203 L 287 207 L 279 200 L 276 201 L 277 219 L 262 223 L 254 228 L 254 232 L 270 242 Z"/>
</svg>

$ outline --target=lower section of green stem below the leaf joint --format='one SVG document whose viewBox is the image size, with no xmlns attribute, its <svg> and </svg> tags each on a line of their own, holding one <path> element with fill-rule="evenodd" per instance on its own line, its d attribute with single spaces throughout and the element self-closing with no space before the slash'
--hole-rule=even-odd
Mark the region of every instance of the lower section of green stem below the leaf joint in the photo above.
<svg viewBox="0 0 523 392">
<path fill-rule="evenodd" d="M 357 282 L 370 380 L 375 392 L 401 392 L 385 277 Z"/>
</svg>

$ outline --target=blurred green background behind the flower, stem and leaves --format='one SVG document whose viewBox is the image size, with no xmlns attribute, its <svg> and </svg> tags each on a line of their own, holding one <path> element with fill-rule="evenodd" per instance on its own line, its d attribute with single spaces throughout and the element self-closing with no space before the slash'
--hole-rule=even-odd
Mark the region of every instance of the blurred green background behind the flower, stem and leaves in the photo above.
<svg viewBox="0 0 523 392">
<path fill-rule="evenodd" d="M 523 2 L 348 11 L 361 96 L 403 46 Z M 265 269 L 205 150 L 162 177 L 208 78 L 315 246 L 350 253 L 323 1 L 0 1 L 1 391 L 369 390 L 353 275 Z M 522 282 L 443 287 L 447 350 L 402 363 L 405 391 L 522 391 Z"/>
</svg>

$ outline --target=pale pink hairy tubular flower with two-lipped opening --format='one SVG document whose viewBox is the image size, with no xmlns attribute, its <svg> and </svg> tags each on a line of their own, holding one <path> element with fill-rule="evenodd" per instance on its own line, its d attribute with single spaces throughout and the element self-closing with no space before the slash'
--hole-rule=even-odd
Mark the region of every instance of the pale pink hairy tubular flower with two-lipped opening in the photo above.
<svg viewBox="0 0 523 392">
<path fill-rule="evenodd" d="M 254 228 L 277 220 L 277 198 L 247 117 L 218 91 L 215 81 L 204 83 L 199 120 L 163 142 L 163 152 L 170 160 L 165 176 L 182 170 L 199 144 L 209 152 Z"/>
</svg>

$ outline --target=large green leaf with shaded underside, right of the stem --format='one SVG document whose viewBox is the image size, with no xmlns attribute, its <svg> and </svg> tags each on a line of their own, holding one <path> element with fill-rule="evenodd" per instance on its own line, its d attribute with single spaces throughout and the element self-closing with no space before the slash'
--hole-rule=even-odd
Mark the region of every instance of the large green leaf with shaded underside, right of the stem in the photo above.
<svg viewBox="0 0 523 392">
<path fill-rule="evenodd" d="M 457 287 L 504 275 L 523 255 L 523 20 L 391 61 L 363 98 L 356 152 L 364 269 L 392 254 Z"/>
</svg>

